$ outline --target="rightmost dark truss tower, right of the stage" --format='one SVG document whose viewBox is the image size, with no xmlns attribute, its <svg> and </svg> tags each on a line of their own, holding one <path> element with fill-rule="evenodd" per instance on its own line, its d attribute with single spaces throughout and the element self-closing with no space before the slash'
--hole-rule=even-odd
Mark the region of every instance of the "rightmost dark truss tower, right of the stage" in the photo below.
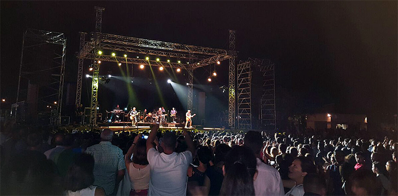
<svg viewBox="0 0 398 196">
<path fill-rule="evenodd" d="M 270 60 L 261 66 L 263 95 L 261 96 L 261 124 L 267 130 L 276 130 L 275 114 L 275 64 Z"/>
</svg>

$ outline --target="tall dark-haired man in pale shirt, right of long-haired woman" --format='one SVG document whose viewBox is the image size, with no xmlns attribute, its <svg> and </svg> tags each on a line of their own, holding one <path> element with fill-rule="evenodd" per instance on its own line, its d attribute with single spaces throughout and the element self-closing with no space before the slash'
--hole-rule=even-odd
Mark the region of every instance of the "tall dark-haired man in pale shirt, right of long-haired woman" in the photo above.
<svg viewBox="0 0 398 196">
<path fill-rule="evenodd" d="M 263 163 L 260 159 L 260 151 L 263 146 L 263 138 L 260 132 L 248 131 L 245 134 L 244 146 L 253 150 L 257 157 L 257 179 L 253 182 L 256 196 L 283 196 L 285 195 L 281 175 L 279 172 Z"/>
</svg>

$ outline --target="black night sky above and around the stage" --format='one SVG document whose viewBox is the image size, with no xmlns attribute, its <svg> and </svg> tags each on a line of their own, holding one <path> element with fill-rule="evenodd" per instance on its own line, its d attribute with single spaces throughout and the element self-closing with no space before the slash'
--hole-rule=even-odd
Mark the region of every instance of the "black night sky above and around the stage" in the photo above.
<svg viewBox="0 0 398 196">
<path fill-rule="evenodd" d="M 15 100 L 26 28 L 66 34 L 66 80 L 76 81 L 73 54 L 79 31 L 94 30 L 94 6 L 105 7 L 110 34 L 227 48 L 235 29 L 240 59 L 275 62 L 276 85 L 299 94 L 298 110 L 397 112 L 397 1 L 1 0 L 1 97 Z"/>
</svg>

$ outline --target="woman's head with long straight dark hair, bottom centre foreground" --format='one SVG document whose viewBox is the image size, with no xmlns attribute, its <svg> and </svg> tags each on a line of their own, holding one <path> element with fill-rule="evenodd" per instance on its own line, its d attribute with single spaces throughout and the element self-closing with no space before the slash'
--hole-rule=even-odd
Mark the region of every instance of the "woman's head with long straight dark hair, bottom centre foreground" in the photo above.
<svg viewBox="0 0 398 196">
<path fill-rule="evenodd" d="M 225 160 L 220 196 L 254 196 L 257 160 L 253 151 L 236 145 L 226 154 Z"/>
</svg>

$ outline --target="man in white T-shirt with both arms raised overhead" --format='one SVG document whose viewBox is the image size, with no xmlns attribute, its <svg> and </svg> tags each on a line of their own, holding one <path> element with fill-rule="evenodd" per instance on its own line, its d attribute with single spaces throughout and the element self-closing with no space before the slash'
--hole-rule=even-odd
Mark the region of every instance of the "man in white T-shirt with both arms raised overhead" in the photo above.
<svg viewBox="0 0 398 196">
<path fill-rule="evenodd" d="M 147 158 L 151 167 L 148 196 L 185 196 L 188 166 L 192 163 L 195 153 L 192 137 L 188 131 L 184 130 L 183 135 L 188 150 L 177 153 L 174 152 L 177 147 L 176 134 L 166 132 L 160 144 L 163 152 L 160 153 L 153 145 L 158 129 L 159 124 L 156 123 L 146 141 Z"/>
</svg>

